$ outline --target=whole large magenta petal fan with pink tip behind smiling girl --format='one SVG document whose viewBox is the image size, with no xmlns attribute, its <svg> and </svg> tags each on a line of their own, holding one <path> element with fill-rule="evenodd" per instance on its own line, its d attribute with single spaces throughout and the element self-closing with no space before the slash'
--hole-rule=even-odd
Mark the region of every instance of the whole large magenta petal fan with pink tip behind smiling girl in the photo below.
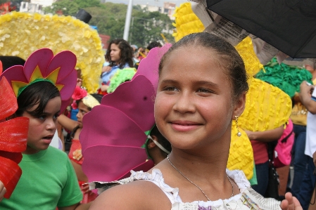
<svg viewBox="0 0 316 210">
<path fill-rule="evenodd" d="M 153 166 L 141 146 L 147 139 L 145 132 L 155 124 L 158 65 L 170 46 L 153 48 L 141 60 L 132 81 L 120 84 L 84 115 L 82 170 L 89 181 L 115 181 L 129 176 L 130 170 L 148 171 Z"/>
</svg>

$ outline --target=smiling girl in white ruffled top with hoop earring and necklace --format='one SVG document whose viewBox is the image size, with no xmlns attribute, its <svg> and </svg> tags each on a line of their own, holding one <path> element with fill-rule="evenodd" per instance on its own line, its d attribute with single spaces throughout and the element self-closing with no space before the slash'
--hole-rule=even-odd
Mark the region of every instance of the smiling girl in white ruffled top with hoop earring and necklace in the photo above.
<svg viewBox="0 0 316 210">
<path fill-rule="evenodd" d="M 226 41 L 198 33 L 174 44 L 160 60 L 155 100 L 171 154 L 148 172 L 132 171 L 91 209 L 280 209 L 251 189 L 242 171 L 226 169 L 232 120 L 244 111 L 246 91 L 243 60 Z M 282 209 L 301 209 L 286 198 Z"/>
</svg>

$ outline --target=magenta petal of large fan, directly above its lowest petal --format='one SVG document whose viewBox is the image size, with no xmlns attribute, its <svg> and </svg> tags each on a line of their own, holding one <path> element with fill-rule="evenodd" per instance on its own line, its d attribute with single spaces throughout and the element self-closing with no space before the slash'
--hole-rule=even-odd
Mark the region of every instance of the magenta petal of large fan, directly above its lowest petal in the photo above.
<svg viewBox="0 0 316 210">
<path fill-rule="evenodd" d="M 144 131 L 132 119 L 114 107 L 104 105 L 94 107 L 91 112 L 84 115 L 83 124 L 80 133 L 83 155 L 87 147 L 94 145 L 141 147 L 147 138 Z M 86 129 L 85 125 L 88 124 L 89 128 Z"/>
</svg>

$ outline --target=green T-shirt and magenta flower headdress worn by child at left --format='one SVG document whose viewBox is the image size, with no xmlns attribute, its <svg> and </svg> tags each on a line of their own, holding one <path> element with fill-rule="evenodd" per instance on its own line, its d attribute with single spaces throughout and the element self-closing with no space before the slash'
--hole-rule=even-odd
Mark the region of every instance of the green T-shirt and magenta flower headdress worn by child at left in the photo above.
<svg viewBox="0 0 316 210">
<path fill-rule="evenodd" d="M 76 60 L 75 54 L 70 51 L 54 56 L 53 51 L 42 48 L 27 58 L 24 67 L 10 67 L 1 74 L 0 79 L 8 80 L 17 97 L 30 84 L 51 82 L 61 94 L 63 112 L 76 86 Z M 0 209 L 25 209 L 25 206 L 29 209 L 39 206 L 42 209 L 55 209 L 56 206 L 71 206 L 82 200 L 75 171 L 65 152 L 48 147 L 33 155 L 23 154 L 19 165 L 23 171 L 20 181 L 11 198 L 0 202 Z M 49 190 L 45 185 L 49 186 Z"/>
</svg>

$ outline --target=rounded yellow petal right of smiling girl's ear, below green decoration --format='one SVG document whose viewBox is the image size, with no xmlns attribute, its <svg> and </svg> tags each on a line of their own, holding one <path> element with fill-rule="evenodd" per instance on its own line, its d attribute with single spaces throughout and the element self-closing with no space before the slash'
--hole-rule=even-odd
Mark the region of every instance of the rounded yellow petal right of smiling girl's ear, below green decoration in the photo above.
<svg viewBox="0 0 316 210">
<path fill-rule="evenodd" d="M 239 126 L 248 131 L 267 131 L 284 125 L 290 117 L 292 101 L 281 89 L 260 79 L 251 79 Z"/>
</svg>

